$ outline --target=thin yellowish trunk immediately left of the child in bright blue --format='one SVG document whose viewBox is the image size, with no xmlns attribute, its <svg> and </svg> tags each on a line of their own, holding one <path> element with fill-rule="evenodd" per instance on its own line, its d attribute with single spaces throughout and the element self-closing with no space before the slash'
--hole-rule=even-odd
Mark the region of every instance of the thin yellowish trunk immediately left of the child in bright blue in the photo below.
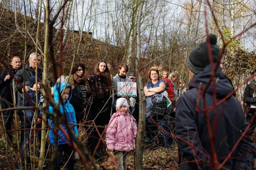
<svg viewBox="0 0 256 170">
<path fill-rule="evenodd" d="M 50 22 L 50 6 L 49 0 L 46 0 L 46 8 L 45 8 L 46 18 L 45 18 L 45 35 L 44 35 L 44 60 L 43 60 L 43 85 L 47 86 L 47 75 L 48 75 L 48 40 L 49 40 L 49 22 Z M 44 91 L 43 91 L 44 93 Z M 45 99 L 43 103 L 43 107 L 46 107 L 47 100 Z M 42 115 L 42 130 L 41 130 L 41 148 L 40 148 L 40 157 L 38 163 L 38 169 L 43 169 L 44 165 L 44 155 L 45 155 L 45 143 L 46 143 L 46 112 L 43 110 Z"/>
</svg>

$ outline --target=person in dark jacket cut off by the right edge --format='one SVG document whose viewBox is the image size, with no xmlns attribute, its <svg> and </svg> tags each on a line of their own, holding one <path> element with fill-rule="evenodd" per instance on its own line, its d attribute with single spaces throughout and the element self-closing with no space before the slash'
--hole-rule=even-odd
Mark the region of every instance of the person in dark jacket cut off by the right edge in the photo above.
<svg viewBox="0 0 256 170">
<path fill-rule="evenodd" d="M 248 85 L 245 88 L 244 101 L 245 116 L 247 122 L 250 124 L 250 133 L 252 135 L 256 127 L 256 69 L 253 70 L 252 79 L 248 81 Z"/>
</svg>

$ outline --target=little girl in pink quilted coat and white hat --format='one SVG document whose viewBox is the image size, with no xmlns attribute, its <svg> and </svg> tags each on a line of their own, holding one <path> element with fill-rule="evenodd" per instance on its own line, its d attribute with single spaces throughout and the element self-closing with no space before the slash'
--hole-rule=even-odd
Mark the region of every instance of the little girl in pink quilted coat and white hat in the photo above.
<svg viewBox="0 0 256 170">
<path fill-rule="evenodd" d="M 135 149 L 137 126 L 128 108 L 125 98 L 117 99 L 117 112 L 111 117 L 106 133 L 107 148 L 111 154 L 115 153 L 120 170 L 126 170 L 128 153 Z"/>
</svg>

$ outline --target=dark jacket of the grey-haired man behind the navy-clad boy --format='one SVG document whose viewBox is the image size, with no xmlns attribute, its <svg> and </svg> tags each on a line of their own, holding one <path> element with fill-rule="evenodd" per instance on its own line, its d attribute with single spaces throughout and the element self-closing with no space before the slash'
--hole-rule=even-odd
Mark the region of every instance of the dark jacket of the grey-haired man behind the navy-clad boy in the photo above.
<svg viewBox="0 0 256 170">
<path fill-rule="evenodd" d="M 15 78 L 13 79 L 14 85 L 16 85 L 17 91 L 22 93 L 22 87 L 29 86 L 29 78 L 31 76 L 35 76 L 35 71 L 32 67 L 29 67 L 29 65 L 25 66 L 25 82 L 23 82 L 23 69 L 19 69 L 17 73 L 15 74 Z M 41 81 L 43 77 L 43 69 L 38 68 L 38 78 Z M 16 79 L 17 78 L 17 79 Z M 23 84 L 22 84 L 23 83 Z M 25 83 L 25 84 L 24 84 Z"/>
</svg>

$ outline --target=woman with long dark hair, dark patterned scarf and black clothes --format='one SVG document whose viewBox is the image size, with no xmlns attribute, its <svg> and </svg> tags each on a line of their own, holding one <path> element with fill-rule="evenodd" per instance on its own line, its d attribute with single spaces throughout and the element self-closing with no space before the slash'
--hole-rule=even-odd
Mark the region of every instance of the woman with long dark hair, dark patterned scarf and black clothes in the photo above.
<svg viewBox="0 0 256 170">
<path fill-rule="evenodd" d="M 95 72 L 89 78 L 92 89 L 92 119 L 94 120 L 99 133 L 104 136 L 104 126 L 108 124 L 111 116 L 112 108 L 112 80 L 110 76 L 110 70 L 105 60 L 100 60 L 95 66 Z M 98 127 L 99 126 L 99 127 Z M 101 158 L 100 155 L 102 141 L 99 143 L 99 147 L 96 148 L 100 136 L 96 129 L 92 129 L 91 132 L 91 151 L 92 153 L 97 149 L 95 157 Z"/>
</svg>

